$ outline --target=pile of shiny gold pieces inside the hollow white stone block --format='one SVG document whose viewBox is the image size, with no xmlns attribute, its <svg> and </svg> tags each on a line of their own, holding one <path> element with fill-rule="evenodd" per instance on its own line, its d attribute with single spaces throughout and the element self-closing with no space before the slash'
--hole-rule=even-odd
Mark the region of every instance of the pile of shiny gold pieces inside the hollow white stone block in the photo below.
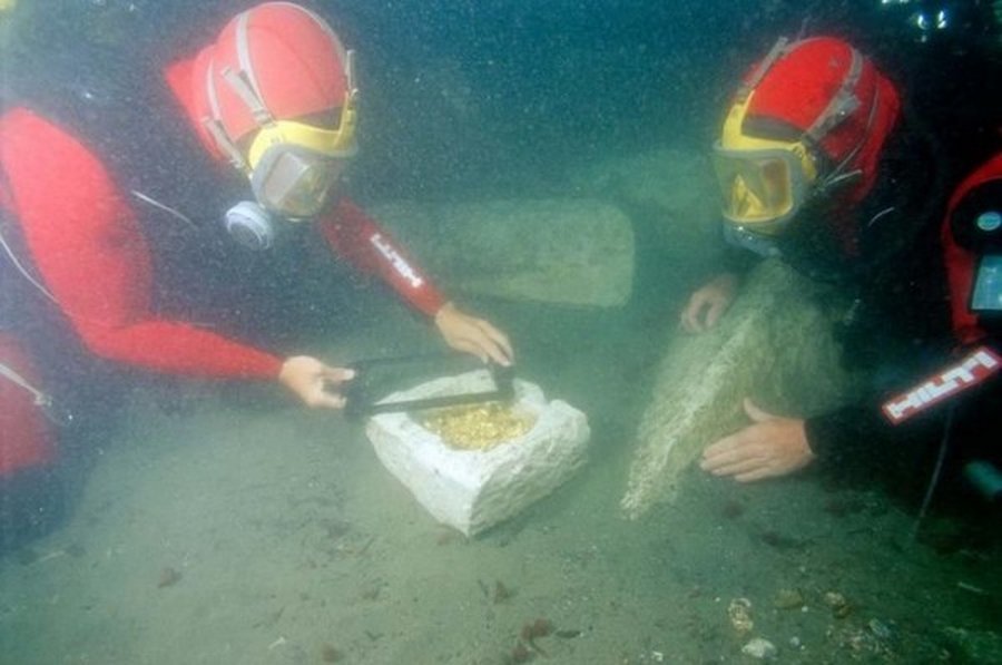
<svg viewBox="0 0 1002 665">
<path fill-rule="evenodd" d="M 428 411 L 419 417 L 421 426 L 459 450 L 489 450 L 521 437 L 536 424 L 536 417 L 509 404 L 487 402 Z"/>
</svg>

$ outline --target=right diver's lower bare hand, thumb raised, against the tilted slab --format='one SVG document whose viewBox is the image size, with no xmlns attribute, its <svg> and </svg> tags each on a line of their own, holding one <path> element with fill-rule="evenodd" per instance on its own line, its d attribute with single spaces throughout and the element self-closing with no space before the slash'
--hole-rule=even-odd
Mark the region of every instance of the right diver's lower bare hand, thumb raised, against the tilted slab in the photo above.
<svg viewBox="0 0 1002 665">
<path fill-rule="evenodd" d="M 744 405 L 753 423 L 708 446 L 699 462 L 704 471 L 750 482 L 793 473 L 814 460 L 803 420 L 773 415 L 747 398 Z"/>
</svg>

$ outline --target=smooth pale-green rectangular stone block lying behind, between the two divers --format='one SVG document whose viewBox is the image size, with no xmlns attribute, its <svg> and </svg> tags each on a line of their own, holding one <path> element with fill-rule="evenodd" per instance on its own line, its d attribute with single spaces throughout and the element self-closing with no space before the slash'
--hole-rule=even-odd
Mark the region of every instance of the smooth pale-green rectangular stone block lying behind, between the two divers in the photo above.
<svg viewBox="0 0 1002 665">
<path fill-rule="evenodd" d="M 372 213 L 456 291 L 603 307 L 632 291 L 630 221 L 600 201 L 402 202 Z"/>
</svg>

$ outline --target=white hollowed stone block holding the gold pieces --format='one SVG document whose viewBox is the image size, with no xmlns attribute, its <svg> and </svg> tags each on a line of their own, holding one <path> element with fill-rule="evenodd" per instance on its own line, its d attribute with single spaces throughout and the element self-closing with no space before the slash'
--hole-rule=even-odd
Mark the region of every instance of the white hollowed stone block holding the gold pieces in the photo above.
<svg viewBox="0 0 1002 665">
<path fill-rule="evenodd" d="M 415 400 L 489 389 L 485 370 L 429 381 L 389 395 Z M 471 536 L 549 495 L 581 467 L 590 430 L 581 411 L 515 381 L 515 408 L 536 415 L 532 429 L 487 450 L 459 450 L 411 414 L 384 413 L 366 434 L 380 461 L 435 519 Z"/>
</svg>

